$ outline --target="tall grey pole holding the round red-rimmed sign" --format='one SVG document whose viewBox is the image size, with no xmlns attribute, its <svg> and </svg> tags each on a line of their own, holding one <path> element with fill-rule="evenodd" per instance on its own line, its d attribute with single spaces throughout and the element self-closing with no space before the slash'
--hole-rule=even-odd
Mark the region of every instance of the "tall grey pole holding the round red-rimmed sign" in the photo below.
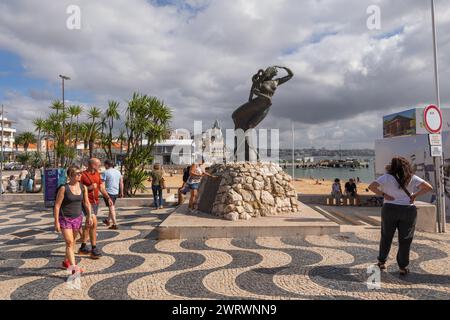
<svg viewBox="0 0 450 320">
<path fill-rule="evenodd" d="M 435 15 L 435 5 L 434 0 L 431 0 L 431 23 L 433 31 L 433 54 L 434 54 L 434 84 L 435 84 L 435 94 L 436 94 L 436 106 L 441 108 L 441 94 L 439 85 L 439 63 L 438 63 L 438 47 L 437 47 L 437 36 L 436 36 L 436 15 Z M 434 158 L 435 167 L 435 181 L 436 181 L 436 192 L 437 192 L 437 211 L 438 211 L 438 221 L 439 221 L 439 232 L 446 232 L 446 216 L 445 216 L 445 191 L 443 187 L 444 174 L 443 174 L 443 161 L 442 157 Z"/>
</svg>

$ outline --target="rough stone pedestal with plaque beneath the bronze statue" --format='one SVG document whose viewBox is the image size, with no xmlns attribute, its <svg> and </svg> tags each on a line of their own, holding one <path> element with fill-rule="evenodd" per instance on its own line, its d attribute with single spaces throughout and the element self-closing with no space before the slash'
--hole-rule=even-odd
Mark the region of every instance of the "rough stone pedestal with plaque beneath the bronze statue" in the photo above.
<svg viewBox="0 0 450 320">
<path fill-rule="evenodd" d="M 211 168 L 218 179 L 205 178 L 199 210 L 227 220 L 298 213 L 292 178 L 272 163 L 233 163 Z"/>
</svg>

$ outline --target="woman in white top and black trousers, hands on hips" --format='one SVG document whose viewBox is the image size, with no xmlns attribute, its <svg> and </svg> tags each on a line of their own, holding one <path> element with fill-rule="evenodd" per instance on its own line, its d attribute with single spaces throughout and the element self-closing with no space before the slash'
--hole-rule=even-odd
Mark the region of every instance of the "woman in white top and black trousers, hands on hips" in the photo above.
<svg viewBox="0 0 450 320">
<path fill-rule="evenodd" d="M 417 222 L 414 202 L 417 197 L 433 190 L 433 187 L 413 174 L 411 163 L 405 158 L 392 159 L 386 169 L 387 173 L 369 186 L 369 190 L 384 198 L 378 267 L 386 270 L 392 240 L 398 230 L 397 263 L 400 275 L 405 276 L 409 273 L 409 255 Z"/>
</svg>

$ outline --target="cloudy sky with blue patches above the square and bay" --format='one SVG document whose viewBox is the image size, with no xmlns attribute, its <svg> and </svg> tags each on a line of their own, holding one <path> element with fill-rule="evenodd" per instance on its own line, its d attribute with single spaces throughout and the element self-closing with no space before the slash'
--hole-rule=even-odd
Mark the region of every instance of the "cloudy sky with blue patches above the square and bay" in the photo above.
<svg viewBox="0 0 450 320">
<path fill-rule="evenodd" d="M 81 28 L 67 28 L 67 7 Z M 381 8 L 369 30 L 367 8 Z M 450 105 L 450 1 L 436 0 L 443 106 Z M 424 0 L 0 0 L 0 102 L 29 130 L 60 98 L 125 106 L 133 91 L 174 111 L 174 128 L 204 128 L 248 99 L 270 65 L 295 78 L 280 87 L 262 128 L 289 146 L 365 148 L 384 114 L 434 102 L 431 15 Z"/>
</svg>

